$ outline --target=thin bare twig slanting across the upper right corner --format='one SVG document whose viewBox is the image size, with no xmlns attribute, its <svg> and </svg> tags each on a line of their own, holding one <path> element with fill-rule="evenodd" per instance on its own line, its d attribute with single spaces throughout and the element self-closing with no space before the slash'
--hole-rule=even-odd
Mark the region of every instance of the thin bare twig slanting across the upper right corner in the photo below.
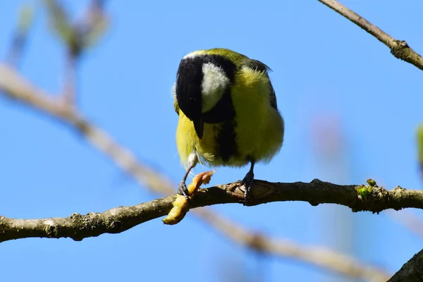
<svg viewBox="0 0 423 282">
<path fill-rule="evenodd" d="M 365 18 L 362 18 L 360 15 L 351 11 L 349 8 L 343 6 L 343 4 L 339 3 L 336 0 L 318 0 L 322 4 L 328 6 L 336 13 L 341 14 L 348 20 L 352 21 L 363 30 L 369 32 L 369 34 L 373 35 L 378 39 L 380 42 L 385 44 L 389 49 L 391 49 L 391 54 L 396 56 L 397 59 L 401 59 L 406 61 L 407 63 L 411 63 L 412 65 L 416 66 L 420 70 L 423 71 L 423 58 L 419 54 L 417 54 L 413 49 L 411 49 L 407 42 L 403 40 L 397 40 L 391 35 L 388 35 L 386 32 L 381 30 L 376 25 L 373 25 Z"/>
</svg>

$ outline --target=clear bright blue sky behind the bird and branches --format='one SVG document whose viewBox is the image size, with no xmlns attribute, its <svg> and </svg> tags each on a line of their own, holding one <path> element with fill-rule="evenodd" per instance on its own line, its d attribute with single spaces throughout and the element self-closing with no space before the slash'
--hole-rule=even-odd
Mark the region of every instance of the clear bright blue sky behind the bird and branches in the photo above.
<svg viewBox="0 0 423 282">
<path fill-rule="evenodd" d="M 24 2 L 2 5 L 0 58 L 6 56 Z M 87 4 L 64 2 L 75 16 Z M 423 2 L 343 4 L 423 53 Z M 80 62 L 80 110 L 174 183 L 183 176 L 171 97 L 178 63 L 190 51 L 225 47 L 259 59 L 274 71 L 271 79 L 286 123 L 286 141 L 274 161 L 257 166 L 256 178 L 320 178 L 341 184 L 374 178 L 390 189 L 422 189 L 415 144 L 415 130 L 423 122 L 422 72 L 318 1 L 110 1 L 107 11 L 112 18 L 109 32 Z M 39 8 L 21 73 L 57 94 L 63 82 L 63 54 Z M 3 97 L 0 136 L 2 216 L 102 212 L 158 197 L 73 130 Z M 238 180 L 246 171 L 220 168 L 212 184 Z M 422 238 L 385 212 L 353 214 L 345 207 L 301 202 L 212 209 L 253 230 L 342 250 L 391 272 L 422 246 Z M 183 240 L 189 244 L 178 243 Z M 125 233 L 82 242 L 8 241 L 0 250 L 0 264 L 9 270 L 4 278 L 15 281 L 231 281 L 225 271 L 233 269 L 245 275 L 245 281 L 343 279 L 292 259 L 260 257 L 192 216 L 176 226 L 156 219 Z M 173 262 L 175 253 L 179 257 Z M 176 277 L 187 264 L 190 271 Z"/>
</svg>

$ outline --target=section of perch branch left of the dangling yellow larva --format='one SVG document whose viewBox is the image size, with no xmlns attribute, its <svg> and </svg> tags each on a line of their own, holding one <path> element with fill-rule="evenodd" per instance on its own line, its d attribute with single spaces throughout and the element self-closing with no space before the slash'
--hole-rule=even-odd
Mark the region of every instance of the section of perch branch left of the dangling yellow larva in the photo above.
<svg viewBox="0 0 423 282">
<path fill-rule="evenodd" d="M 116 207 L 102 213 L 50 219 L 10 219 L 0 216 L 0 243 L 22 238 L 72 238 L 80 241 L 104 233 L 121 233 L 140 223 L 164 216 L 172 207 L 168 196 L 132 207 Z"/>
</svg>

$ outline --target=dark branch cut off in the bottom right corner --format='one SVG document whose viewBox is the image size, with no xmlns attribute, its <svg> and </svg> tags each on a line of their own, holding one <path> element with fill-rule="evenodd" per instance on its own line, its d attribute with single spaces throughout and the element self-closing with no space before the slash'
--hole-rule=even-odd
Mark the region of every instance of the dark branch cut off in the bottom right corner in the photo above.
<svg viewBox="0 0 423 282">
<path fill-rule="evenodd" d="M 423 250 L 417 252 L 388 282 L 420 282 L 423 280 Z"/>
</svg>

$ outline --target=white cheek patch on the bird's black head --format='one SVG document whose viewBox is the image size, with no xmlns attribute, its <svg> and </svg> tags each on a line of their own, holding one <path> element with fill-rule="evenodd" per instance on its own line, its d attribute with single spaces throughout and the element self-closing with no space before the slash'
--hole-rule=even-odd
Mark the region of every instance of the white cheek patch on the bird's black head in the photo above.
<svg viewBox="0 0 423 282">
<path fill-rule="evenodd" d="M 205 113 L 219 102 L 229 84 L 229 78 L 222 68 L 213 63 L 204 63 L 202 73 L 202 112 Z"/>
</svg>

